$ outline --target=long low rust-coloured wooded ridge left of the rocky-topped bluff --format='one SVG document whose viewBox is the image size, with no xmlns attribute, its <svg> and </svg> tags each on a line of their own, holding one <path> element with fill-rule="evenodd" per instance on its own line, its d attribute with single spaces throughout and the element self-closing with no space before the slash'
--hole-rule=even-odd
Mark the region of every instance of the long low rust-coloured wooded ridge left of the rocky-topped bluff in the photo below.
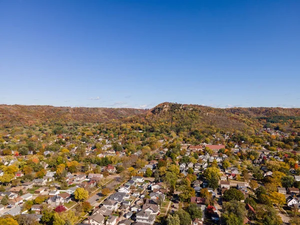
<svg viewBox="0 0 300 225">
<path fill-rule="evenodd" d="M 0 125 L 46 122 L 99 123 L 144 112 L 136 108 L 55 107 L 50 105 L 0 105 Z"/>
</svg>

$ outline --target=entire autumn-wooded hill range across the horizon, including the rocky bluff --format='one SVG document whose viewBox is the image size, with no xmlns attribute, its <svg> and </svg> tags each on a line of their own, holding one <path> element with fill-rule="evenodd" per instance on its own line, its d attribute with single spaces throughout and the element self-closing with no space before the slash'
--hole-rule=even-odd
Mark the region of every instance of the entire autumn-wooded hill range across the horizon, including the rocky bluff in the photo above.
<svg viewBox="0 0 300 225">
<path fill-rule="evenodd" d="M 206 127 L 232 131 L 255 129 L 266 124 L 280 124 L 281 128 L 289 131 L 300 131 L 300 108 L 214 108 L 169 102 L 158 104 L 152 109 L 0 105 L 1 126 L 55 121 L 138 122 L 153 127 L 153 131 L 157 132 L 180 132 Z"/>
</svg>

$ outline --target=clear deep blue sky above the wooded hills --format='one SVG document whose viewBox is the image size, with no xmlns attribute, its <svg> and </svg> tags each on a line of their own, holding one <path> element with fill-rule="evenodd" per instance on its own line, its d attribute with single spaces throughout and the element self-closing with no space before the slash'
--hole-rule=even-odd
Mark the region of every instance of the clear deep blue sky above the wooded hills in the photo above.
<svg viewBox="0 0 300 225">
<path fill-rule="evenodd" d="M 299 0 L 0 0 L 0 103 L 300 107 Z"/>
</svg>

